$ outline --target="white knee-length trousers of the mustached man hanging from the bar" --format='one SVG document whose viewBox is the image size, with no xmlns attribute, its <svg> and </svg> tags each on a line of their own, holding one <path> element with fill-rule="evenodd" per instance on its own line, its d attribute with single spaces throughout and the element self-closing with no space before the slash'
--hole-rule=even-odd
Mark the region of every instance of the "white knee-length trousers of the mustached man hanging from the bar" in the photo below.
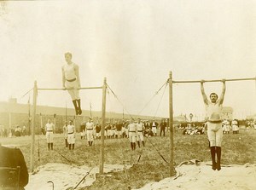
<svg viewBox="0 0 256 190">
<path fill-rule="evenodd" d="M 210 141 L 210 147 L 221 147 L 221 142 L 223 139 L 221 123 L 212 124 L 207 122 L 207 136 L 208 140 Z"/>
</svg>

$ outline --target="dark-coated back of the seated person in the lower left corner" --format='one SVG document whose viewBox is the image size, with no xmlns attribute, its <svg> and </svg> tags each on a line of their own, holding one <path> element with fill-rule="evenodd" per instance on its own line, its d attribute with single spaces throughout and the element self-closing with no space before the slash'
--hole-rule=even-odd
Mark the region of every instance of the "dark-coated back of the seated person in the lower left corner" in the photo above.
<svg viewBox="0 0 256 190">
<path fill-rule="evenodd" d="M 19 189 L 24 190 L 24 187 L 26 187 L 28 183 L 29 176 L 22 152 L 19 148 L 3 147 L 0 143 L 0 167 L 16 168 L 17 166 L 20 166 Z M 6 180 L 4 176 L 0 177 L 0 187 L 3 187 L 3 189 L 5 189 L 4 187 L 9 187 L 13 183 L 14 181 Z"/>
</svg>

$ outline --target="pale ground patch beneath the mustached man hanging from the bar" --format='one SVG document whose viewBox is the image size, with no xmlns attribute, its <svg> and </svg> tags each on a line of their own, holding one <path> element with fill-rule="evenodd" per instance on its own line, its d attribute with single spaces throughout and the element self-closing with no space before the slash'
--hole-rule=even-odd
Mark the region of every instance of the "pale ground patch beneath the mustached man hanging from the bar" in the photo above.
<svg viewBox="0 0 256 190">
<path fill-rule="evenodd" d="M 256 164 L 223 165 L 212 170 L 210 163 L 184 162 L 176 168 L 177 175 L 148 183 L 140 190 L 253 190 L 256 189 Z"/>
</svg>

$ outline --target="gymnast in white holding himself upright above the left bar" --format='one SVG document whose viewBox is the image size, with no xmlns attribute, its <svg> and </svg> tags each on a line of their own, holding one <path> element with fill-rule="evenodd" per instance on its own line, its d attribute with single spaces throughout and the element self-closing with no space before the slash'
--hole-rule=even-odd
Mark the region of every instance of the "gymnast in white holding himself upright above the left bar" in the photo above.
<svg viewBox="0 0 256 190">
<path fill-rule="evenodd" d="M 69 52 L 65 53 L 65 60 L 67 64 L 62 66 L 62 85 L 64 89 L 67 89 L 69 95 L 71 95 L 76 115 L 81 115 L 79 66 L 73 63 L 72 54 Z"/>
</svg>

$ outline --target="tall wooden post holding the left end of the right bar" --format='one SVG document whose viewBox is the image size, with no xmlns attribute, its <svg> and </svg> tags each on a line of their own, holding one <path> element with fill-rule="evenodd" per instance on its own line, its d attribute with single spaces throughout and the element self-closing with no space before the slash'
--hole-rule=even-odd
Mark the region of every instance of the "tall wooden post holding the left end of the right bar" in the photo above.
<svg viewBox="0 0 256 190">
<path fill-rule="evenodd" d="M 169 129 L 170 129 L 170 176 L 174 176 L 173 159 L 173 105 L 172 105 L 172 72 L 169 73 Z"/>
</svg>

